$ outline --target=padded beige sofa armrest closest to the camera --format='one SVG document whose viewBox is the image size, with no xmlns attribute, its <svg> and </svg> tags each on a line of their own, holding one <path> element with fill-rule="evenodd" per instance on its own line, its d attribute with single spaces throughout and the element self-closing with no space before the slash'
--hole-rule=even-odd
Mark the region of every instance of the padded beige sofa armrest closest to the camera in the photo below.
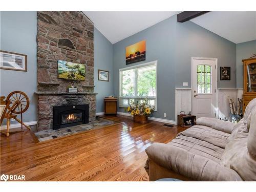
<svg viewBox="0 0 256 192">
<path fill-rule="evenodd" d="M 242 181 L 233 169 L 173 145 L 153 143 L 146 148 L 146 154 L 158 165 L 191 180 Z"/>
</svg>

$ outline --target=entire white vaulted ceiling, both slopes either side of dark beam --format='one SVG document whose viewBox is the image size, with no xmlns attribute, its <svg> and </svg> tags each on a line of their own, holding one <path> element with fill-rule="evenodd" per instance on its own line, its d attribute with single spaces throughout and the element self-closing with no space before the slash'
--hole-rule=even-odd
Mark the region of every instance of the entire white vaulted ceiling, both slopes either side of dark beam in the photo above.
<svg viewBox="0 0 256 192">
<path fill-rule="evenodd" d="M 84 11 L 112 44 L 180 11 Z M 191 22 L 236 44 L 256 39 L 256 12 L 211 11 Z"/>
</svg>

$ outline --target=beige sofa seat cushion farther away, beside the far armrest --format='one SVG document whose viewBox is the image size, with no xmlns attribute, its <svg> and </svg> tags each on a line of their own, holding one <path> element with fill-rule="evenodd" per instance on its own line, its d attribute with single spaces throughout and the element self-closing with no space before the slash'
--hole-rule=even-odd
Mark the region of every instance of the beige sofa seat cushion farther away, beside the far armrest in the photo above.
<svg viewBox="0 0 256 192">
<path fill-rule="evenodd" d="M 228 133 L 218 131 L 203 125 L 194 125 L 193 127 L 190 127 L 189 129 L 179 133 L 178 136 L 179 135 L 206 141 L 221 148 L 225 148 L 230 136 Z"/>
</svg>

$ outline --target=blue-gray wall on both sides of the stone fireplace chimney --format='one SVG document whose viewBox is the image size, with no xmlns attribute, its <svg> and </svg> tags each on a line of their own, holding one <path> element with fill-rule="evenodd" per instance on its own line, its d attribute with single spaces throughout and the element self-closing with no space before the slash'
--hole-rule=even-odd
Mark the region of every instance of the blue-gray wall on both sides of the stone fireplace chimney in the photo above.
<svg viewBox="0 0 256 192">
<path fill-rule="evenodd" d="M 36 12 L 3 12 L 1 18 L 1 50 L 28 55 L 28 71 L 1 69 L 1 95 L 11 91 L 24 91 L 30 98 L 30 107 L 24 121 L 37 120 L 37 61 L 36 61 Z M 110 81 L 98 81 L 98 69 L 110 71 Z M 113 94 L 113 45 L 96 28 L 94 30 L 94 84 L 96 112 L 103 112 L 103 97 Z M 17 123 L 16 121 L 11 123 Z M 5 122 L 4 122 L 5 124 Z"/>
</svg>

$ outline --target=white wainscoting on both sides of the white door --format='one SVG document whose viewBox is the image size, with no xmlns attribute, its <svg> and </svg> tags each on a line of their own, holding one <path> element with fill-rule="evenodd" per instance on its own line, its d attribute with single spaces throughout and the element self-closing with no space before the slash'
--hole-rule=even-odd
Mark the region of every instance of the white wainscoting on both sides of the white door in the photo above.
<svg viewBox="0 0 256 192">
<path fill-rule="evenodd" d="M 175 120 L 177 123 L 177 115 L 181 111 L 185 111 L 186 114 L 192 111 L 191 105 L 191 89 L 190 88 L 176 88 L 175 89 Z M 242 98 L 243 89 L 218 89 L 218 106 L 217 106 L 217 117 L 216 118 L 229 118 L 229 100 L 228 98 L 234 99 L 237 104 L 237 99 Z M 219 115 L 218 115 L 219 114 Z"/>
</svg>

